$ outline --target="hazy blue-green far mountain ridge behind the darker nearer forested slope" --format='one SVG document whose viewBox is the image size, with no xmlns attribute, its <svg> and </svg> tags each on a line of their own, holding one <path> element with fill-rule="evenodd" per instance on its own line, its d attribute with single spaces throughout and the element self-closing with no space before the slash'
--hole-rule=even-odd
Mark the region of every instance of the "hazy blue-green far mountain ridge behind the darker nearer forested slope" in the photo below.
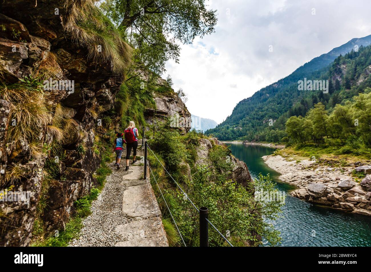
<svg viewBox="0 0 371 272">
<path fill-rule="evenodd" d="M 220 140 L 259 139 L 256 135 L 264 130 L 270 119 L 273 122 L 278 121 L 275 127 L 278 124 L 284 124 L 286 119 L 283 114 L 308 95 L 298 90 L 298 80 L 303 80 L 303 78 L 326 80 L 334 74 L 331 69 L 335 68 L 331 68 L 331 66 L 338 56 L 353 52 L 355 54 L 352 54 L 352 57 L 355 57 L 358 53 L 354 51 L 370 45 L 371 35 L 353 38 L 342 46 L 313 58 L 287 77 L 260 89 L 251 97 L 241 100 L 225 121 L 217 125 L 216 128 L 208 130 L 206 134 L 213 134 Z M 335 67 L 337 70 L 341 70 L 338 65 Z M 337 75 L 337 77 L 342 84 L 341 75 Z M 335 78 L 332 80 L 332 83 L 335 84 Z"/>
</svg>

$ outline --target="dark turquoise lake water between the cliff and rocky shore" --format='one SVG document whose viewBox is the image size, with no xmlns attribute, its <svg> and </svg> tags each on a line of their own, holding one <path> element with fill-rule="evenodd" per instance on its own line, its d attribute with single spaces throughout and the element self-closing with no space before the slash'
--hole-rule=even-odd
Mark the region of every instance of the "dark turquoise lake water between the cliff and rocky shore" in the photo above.
<svg viewBox="0 0 371 272">
<path fill-rule="evenodd" d="M 232 154 L 246 163 L 253 177 L 260 172 L 270 174 L 276 187 L 285 191 L 281 218 L 272 222 L 281 232 L 281 246 L 371 246 L 371 216 L 347 214 L 294 198 L 289 191 L 295 187 L 280 182 L 279 173 L 262 159 L 262 156 L 272 154 L 273 148 L 228 145 Z"/>
</svg>

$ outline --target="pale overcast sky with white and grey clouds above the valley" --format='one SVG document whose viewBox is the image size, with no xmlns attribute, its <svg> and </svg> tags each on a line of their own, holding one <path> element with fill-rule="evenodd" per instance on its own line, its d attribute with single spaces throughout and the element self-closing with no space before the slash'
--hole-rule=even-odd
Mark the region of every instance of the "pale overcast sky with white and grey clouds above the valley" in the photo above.
<svg viewBox="0 0 371 272">
<path fill-rule="evenodd" d="M 370 0 L 208 3 L 218 14 L 215 33 L 182 45 L 180 63 L 168 61 L 163 77 L 170 74 L 174 90 L 188 94 L 191 114 L 218 123 L 260 88 L 352 38 L 371 34 Z"/>
</svg>

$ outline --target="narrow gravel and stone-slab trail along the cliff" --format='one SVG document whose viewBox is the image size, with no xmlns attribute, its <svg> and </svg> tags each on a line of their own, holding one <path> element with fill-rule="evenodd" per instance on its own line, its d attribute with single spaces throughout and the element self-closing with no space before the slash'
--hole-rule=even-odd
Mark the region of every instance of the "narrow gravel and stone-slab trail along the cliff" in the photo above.
<svg viewBox="0 0 371 272">
<path fill-rule="evenodd" d="M 137 155 L 142 156 L 141 145 Z M 114 162 L 110 166 L 113 172 L 92 202 L 92 214 L 69 246 L 168 246 L 161 211 L 140 160 L 125 171 L 122 152 L 121 168 L 117 170 Z"/>
</svg>

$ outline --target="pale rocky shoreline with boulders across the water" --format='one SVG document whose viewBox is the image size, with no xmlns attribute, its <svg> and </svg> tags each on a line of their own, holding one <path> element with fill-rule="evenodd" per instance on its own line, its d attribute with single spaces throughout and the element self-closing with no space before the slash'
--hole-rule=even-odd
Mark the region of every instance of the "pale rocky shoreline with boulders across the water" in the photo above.
<svg viewBox="0 0 371 272">
<path fill-rule="evenodd" d="M 281 181 L 298 187 L 290 192 L 293 197 L 344 212 L 371 215 L 371 166 L 356 163 L 347 167 L 326 167 L 309 159 L 298 163 L 288 161 L 280 155 L 262 158 L 281 174 Z M 354 169 L 367 174 L 360 183 L 351 176 Z"/>
</svg>

